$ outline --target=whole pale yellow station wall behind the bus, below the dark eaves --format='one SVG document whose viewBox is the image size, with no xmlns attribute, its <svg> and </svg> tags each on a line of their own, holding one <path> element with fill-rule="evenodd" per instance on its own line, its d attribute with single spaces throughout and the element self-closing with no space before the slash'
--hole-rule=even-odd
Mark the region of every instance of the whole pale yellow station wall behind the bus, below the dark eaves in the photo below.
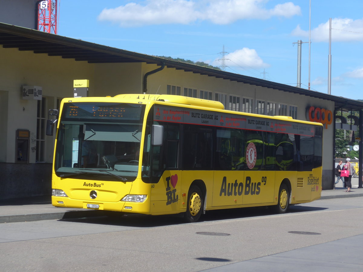
<svg viewBox="0 0 363 272">
<path fill-rule="evenodd" d="M 15 162 L 16 129 L 29 129 L 33 137 L 36 135 L 37 101 L 22 99 L 22 85 L 43 88 L 48 113 L 48 109 L 56 107 L 57 98 L 73 97 L 74 79 L 90 80 L 90 96 L 142 93 L 144 74 L 160 67 L 138 62 L 89 64 L 74 59 L 49 57 L 47 54 L 34 54 L 33 51 L 4 48 L 0 48 L 0 63 L 3 63 L 0 66 L 0 121 L 1 127 L 6 129 L 6 132 L 0 132 L 0 162 Z M 297 106 L 298 119 L 301 120 L 306 120 L 307 106 L 334 108 L 334 102 L 331 101 L 174 68 L 165 67 L 147 78 L 149 94 L 166 94 L 167 85 L 180 86 L 182 90 L 184 87 L 195 88 Z M 324 129 L 324 169 L 332 169 L 332 135 L 333 124 Z M 52 137 L 46 136 L 46 162 L 52 162 L 53 141 Z M 33 147 L 35 143 L 30 145 Z M 35 153 L 30 151 L 30 163 L 34 162 Z"/>
</svg>

